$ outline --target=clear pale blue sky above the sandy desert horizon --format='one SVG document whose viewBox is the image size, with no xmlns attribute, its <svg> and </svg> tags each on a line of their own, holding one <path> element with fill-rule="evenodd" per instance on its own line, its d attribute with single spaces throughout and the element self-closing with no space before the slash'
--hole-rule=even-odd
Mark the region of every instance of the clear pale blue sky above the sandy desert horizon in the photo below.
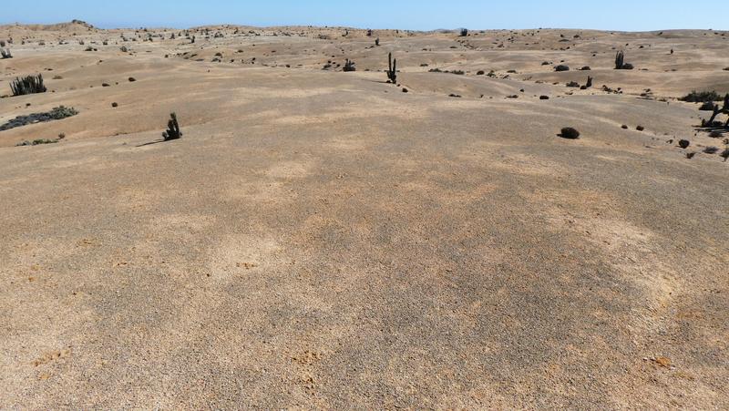
<svg viewBox="0 0 729 411">
<path fill-rule="evenodd" d="M 11 4 L 19 2 L 12 2 Z M 433 30 L 467 27 L 649 31 L 729 29 L 729 1 L 704 0 L 35 0 L 4 7 L 0 24 L 84 20 L 101 28 L 351 26 Z"/>
</svg>

